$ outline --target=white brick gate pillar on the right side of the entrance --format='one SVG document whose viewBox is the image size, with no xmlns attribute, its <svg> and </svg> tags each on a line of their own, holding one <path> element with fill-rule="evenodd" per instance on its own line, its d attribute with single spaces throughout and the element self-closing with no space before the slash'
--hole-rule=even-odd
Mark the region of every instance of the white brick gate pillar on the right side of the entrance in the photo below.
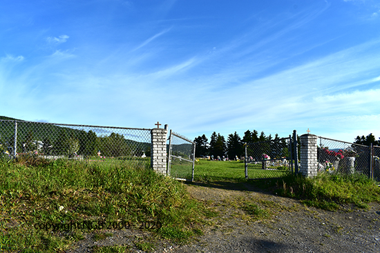
<svg viewBox="0 0 380 253">
<path fill-rule="evenodd" d="M 303 176 L 316 176 L 318 172 L 317 144 L 314 134 L 303 134 L 301 139 L 300 172 Z"/>
</svg>

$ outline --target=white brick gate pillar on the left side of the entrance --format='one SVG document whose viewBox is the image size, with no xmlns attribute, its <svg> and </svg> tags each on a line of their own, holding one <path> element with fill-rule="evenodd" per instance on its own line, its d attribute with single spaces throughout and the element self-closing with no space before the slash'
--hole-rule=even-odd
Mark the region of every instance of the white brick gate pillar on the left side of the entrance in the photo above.
<svg viewBox="0 0 380 253">
<path fill-rule="evenodd" d="M 151 168 L 164 175 L 167 175 L 167 132 L 168 125 L 151 130 Z"/>
</svg>

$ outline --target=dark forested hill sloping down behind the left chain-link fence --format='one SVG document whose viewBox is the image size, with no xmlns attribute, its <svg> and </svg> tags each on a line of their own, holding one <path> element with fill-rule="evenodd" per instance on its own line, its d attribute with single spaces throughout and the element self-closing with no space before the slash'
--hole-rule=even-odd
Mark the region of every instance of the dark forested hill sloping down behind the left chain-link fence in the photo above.
<svg viewBox="0 0 380 253">
<path fill-rule="evenodd" d="M 102 154 L 106 156 L 126 155 L 127 150 L 142 154 L 142 152 L 148 152 L 151 147 L 151 143 L 128 139 L 128 134 L 122 136 L 117 130 L 115 133 L 104 136 L 104 134 L 96 134 L 93 130 L 77 129 L 75 126 L 30 122 L 0 116 L 0 145 L 3 147 L 10 148 L 14 145 L 15 123 L 13 121 L 15 120 L 19 122 L 17 123 L 17 150 L 19 152 L 35 150 L 32 144 L 39 143 L 43 148 L 51 148 L 52 153 L 61 154 L 61 150 L 67 150 L 62 147 L 70 145 L 69 143 L 73 143 L 73 140 L 78 141 L 78 154 L 96 154 L 97 150 L 102 150 Z M 32 148 L 28 148 L 28 145 Z"/>
</svg>

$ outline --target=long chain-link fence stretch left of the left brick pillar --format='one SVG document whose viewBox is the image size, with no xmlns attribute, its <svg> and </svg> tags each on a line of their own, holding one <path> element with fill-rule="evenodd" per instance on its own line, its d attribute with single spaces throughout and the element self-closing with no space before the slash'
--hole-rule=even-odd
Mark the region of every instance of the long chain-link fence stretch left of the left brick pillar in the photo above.
<svg viewBox="0 0 380 253">
<path fill-rule="evenodd" d="M 0 120 L 0 152 L 10 159 L 150 163 L 151 130 Z"/>
</svg>

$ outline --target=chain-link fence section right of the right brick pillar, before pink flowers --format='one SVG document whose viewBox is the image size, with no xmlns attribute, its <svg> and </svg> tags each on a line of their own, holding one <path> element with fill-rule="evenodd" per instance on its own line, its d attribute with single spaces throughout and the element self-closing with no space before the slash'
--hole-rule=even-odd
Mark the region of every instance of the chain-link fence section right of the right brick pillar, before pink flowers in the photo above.
<svg viewBox="0 0 380 253">
<path fill-rule="evenodd" d="M 318 170 L 370 176 L 370 147 L 319 137 Z"/>
</svg>

